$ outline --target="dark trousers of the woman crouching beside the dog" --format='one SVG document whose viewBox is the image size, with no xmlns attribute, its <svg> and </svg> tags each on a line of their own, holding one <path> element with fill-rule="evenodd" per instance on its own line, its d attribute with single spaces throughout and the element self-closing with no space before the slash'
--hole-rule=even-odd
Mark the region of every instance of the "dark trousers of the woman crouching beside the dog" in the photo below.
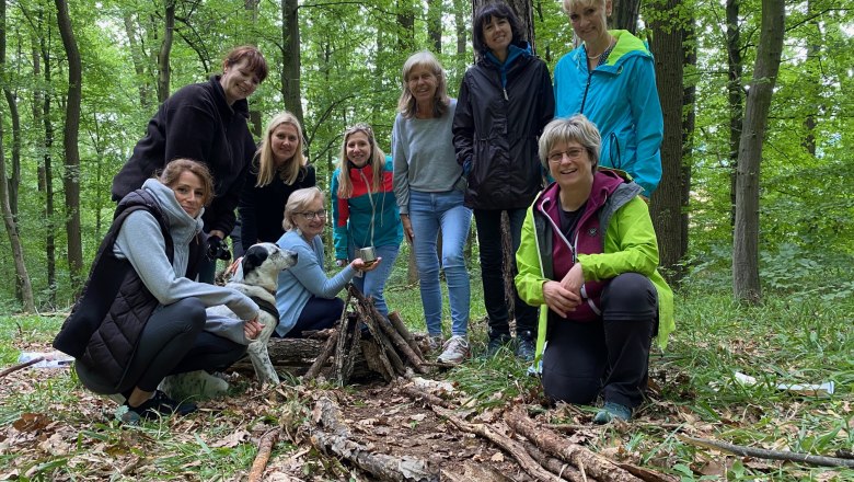
<svg viewBox="0 0 854 482">
<path fill-rule="evenodd" d="M 246 346 L 204 331 L 205 305 L 185 298 L 149 318 L 122 387 L 115 389 L 97 367 L 74 364 L 80 381 L 95 393 L 124 393 L 135 387 L 154 391 L 168 375 L 222 370 L 246 353 Z"/>
</svg>

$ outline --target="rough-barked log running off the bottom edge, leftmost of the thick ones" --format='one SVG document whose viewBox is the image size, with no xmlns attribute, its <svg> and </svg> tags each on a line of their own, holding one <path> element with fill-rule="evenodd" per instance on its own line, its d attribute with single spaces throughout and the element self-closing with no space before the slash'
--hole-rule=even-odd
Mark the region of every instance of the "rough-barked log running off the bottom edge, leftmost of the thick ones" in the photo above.
<svg viewBox="0 0 854 482">
<path fill-rule="evenodd" d="M 439 473 L 425 460 L 416 457 L 394 457 L 376 454 L 356 439 L 341 420 L 337 404 L 327 397 L 321 397 L 314 404 L 312 421 L 323 428 L 311 427 L 312 445 L 324 454 L 348 460 L 361 470 L 383 481 L 439 480 Z"/>
</svg>

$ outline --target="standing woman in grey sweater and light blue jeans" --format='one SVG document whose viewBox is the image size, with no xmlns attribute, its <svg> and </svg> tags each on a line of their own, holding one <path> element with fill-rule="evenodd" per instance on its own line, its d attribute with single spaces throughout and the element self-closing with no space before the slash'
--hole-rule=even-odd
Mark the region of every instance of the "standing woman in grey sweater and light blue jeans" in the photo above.
<svg viewBox="0 0 854 482">
<path fill-rule="evenodd" d="M 415 252 L 430 349 L 441 347 L 439 362 L 455 365 L 470 354 L 471 285 L 463 249 L 472 226 L 472 210 L 463 204 L 465 177 L 451 135 L 457 100 L 448 96 L 441 64 L 426 50 L 406 59 L 402 87 L 392 129 L 394 194 L 406 240 Z M 447 341 L 439 267 L 445 269 L 451 311 Z"/>
</svg>

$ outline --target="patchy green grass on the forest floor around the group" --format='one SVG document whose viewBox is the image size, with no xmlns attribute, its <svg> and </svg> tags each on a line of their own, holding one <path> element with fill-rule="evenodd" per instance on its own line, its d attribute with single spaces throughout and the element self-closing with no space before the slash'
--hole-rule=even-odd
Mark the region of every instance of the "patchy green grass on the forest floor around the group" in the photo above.
<svg viewBox="0 0 854 482">
<path fill-rule="evenodd" d="M 417 285 L 407 286 L 405 263 L 399 266 L 386 291 L 389 306 L 401 312 L 413 330 L 424 331 Z M 469 400 L 466 405 L 475 411 L 511 403 L 535 408 L 543 402 L 542 393 L 538 380 L 527 376 L 523 364 L 509 352 L 492 359 L 478 356 L 485 348 L 486 328 L 476 272 L 472 274 L 472 294 L 470 331 L 475 356 L 440 376 L 455 382 Z M 446 333 L 449 318 L 446 311 Z M 61 317 L 0 317 L 0 366 L 15 364 L 23 349 L 48 349 L 61 321 Z M 854 480 L 854 470 L 850 469 L 743 459 L 697 448 L 678 437 L 685 433 L 826 456 L 852 450 L 853 321 L 852 297 L 828 302 L 766 291 L 761 306 L 750 307 L 734 302 L 729 292 L 699 282 L 689 284 L 677 298 L 678 326 L 668 351 L 655 352 L 650 360 L 650 378 L 658 390 L 636 413 L 634 422 L 622 427 L 591 427 L 582 432 L 584 441 L 595 450 L 620 454 L 682 481 Z M 739 383 L 736 371 L 759 382 Z M 74 377 L 47 376 L 42 370 L 28 374 L 0 379 L 0 475 L 16 470 L 19 480 L 125 479 L 118 474 L 122 467 L 109 464 L 111 454 L 125 460 L 128 455 L 148 457 L 148 480 L 230 480 L 245 475 L 255 446 L 249 436 L 235 444 L 222 445 L 223 439 L 238 431 L 257 435 L 270 424 L 301 416 L 290 401 L 264 405 L 264 410 L 229 406 L 217 415 L 119 427 L 112 417 L 114 405 L 88 393 Z M 774 387 L 824 381 L 835 382 L 836 392 L 831 398 L 799 397 Z M 589 425 L 591 410 L 557 406 L 535 412 L 553 423 Z M 74 444 L 56 440 L 51 445 L 51 439 L 45 437 L 42 445 L 27 445 L 31 449 L 22 457 L 16 450 L 19 444 L 39 434 L 12 428 L 26 413 L 45 414 L 51 422 L 84 428 L 71 437 Z M 49 431 L 44 433 L 49 436 Z M 32 449 L 34 446 L 41 449 Z M 287 458 L 295 450 L 280 441 L 274 458 Z M 84 462 L 88 458 L 96 462 Z M 312 460 L 316 470 L 337 467 L 330 460 Z M 343 469 L 337 470 L 342 473 Z"/>
</svg>

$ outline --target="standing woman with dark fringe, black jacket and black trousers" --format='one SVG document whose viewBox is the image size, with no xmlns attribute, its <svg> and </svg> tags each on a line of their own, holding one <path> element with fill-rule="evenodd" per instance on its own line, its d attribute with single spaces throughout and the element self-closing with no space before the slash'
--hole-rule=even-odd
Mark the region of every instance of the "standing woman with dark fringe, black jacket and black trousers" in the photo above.
<svg viewBox="0 0 854 482">
<path fill-rule="evenodd" d="M 472 24 L 480 60 L 460 87 L 453 119 L 457 162 L 468 174 L 465 205 L 474 209 L 484 303 L 489 315 L 487 356 L 510 343 L 504 296 L 501 214 L 510 220 L 512 252 L 519 248 L 524 211 L 543 184 L 536 138 L 554 115 L 545 62 L 534 57 L 519 19 L 505 3 L 481 8 Z M 516 354 L 534 354 L 536 310 L 516 296 Z"/>
</svg>

